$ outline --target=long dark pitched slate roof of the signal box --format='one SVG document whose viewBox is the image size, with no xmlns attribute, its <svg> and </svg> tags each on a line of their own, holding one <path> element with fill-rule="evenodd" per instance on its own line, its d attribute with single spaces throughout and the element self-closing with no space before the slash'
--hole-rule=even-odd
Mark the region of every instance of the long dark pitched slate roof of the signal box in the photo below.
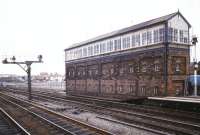
<svg viewBox="0 0 200 135">
<path fill-rule="evenodd" d="M 142 22 L 142 23 L 139 23 L 139 24 L 127 27 L 127 28 L 123 28 L 123 29 L 120 29 L 120 30 L 116 30 L 116 31 L 104 34 L 104 35 L 100 35 L 98 37 L 95 37 L 95 38 L 92 38 L 92 39 L 89 39 L 89 40 L 86 40 L 86 41 L 83 41 L 83 42 L 80 42 L 80 43 L 77 43 L 77 44 L 73 44 L 72 46 L 66 48 L 65 51 L 72 49 L 72 48 L 79 47 L 79 46 L 83 46 L 83 45 L 86 45 L 86 44 L 89 44 L 89 43 L 92 43 L 92 42 L 96 42 L 96 41 L 99 41 L 99 40 L 103 40 L 103 39 L 107 39 L 107 38 L 114 37 L 114 36 L 117 36 L 117 35 L 125 34 L 125 33 L 128 33 L 130 31 L 136 31 L 136 30 L 139 30 L 139 29 L 143 29 L 145 27 L 155 25 L 155 24 L 163 23 L 163 22 L 168 21 L 172 17 L 176 16 L 177 14 L 179 14 L 187 22 L 189 27 L 191 27 L 189 22 L 178 11 L 178 12 L 175 12 L 175 13 L 172 13 L 172 14 L 169 14 L 169 15 L 165 15 L 165 16 L 162 16 L 162 17 L 159 17 L 159 18 L 155 18 L 155 19 L 152 19 L 152 20 L 149 20 L 149 21 L 146 21 L 146 22 Z"/>
</svg>

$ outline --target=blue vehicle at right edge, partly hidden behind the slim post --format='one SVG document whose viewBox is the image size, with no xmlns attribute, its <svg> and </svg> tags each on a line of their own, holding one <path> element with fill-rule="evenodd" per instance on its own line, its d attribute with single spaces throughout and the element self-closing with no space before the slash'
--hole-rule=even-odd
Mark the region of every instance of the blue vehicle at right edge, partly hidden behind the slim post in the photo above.
<svg viewBox="0 0 200 135">
<path fill-rule="evenodd" d="M 194 75 L 190 75 L 185 83 L 185 94 L 188 96 L 194 95 Z M 197 95 L 200 96 L 200 75 L 197 75 Z"/>
</svg>

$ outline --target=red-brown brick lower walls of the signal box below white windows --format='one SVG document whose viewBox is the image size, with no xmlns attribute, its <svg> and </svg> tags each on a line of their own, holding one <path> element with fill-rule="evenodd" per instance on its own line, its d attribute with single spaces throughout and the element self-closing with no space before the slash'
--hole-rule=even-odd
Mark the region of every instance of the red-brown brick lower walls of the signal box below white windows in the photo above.
<svg viewBox="0 0 200 135">
<path fill-rule="evenodd" d="M 177 63 L 180 72 L 175 71 Z M 67 76 L 72 67 L 75 77 Z M 188 73 L 189 51 L 169 48 L 168 95 L 176 95 L 177 89 L 183 89 L 182 82 Z M 162 96 L 165 93 L 163 48 L 66 63 L 66 78 L 67 91 L 72 92 L 113 97 Z"/>
</svg>

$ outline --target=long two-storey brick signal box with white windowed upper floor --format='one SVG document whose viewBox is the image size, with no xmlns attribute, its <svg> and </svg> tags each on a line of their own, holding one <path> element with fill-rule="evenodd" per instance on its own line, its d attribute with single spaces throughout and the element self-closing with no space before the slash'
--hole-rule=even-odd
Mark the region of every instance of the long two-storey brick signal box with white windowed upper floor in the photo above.
<svg viewBox="0 0 200 135">
<path fill-rule="evenodd" d="M 183 95 L 191 25 L 180 12 L 65 49 L 66 92 L 112 98 Z"/>
</svg>

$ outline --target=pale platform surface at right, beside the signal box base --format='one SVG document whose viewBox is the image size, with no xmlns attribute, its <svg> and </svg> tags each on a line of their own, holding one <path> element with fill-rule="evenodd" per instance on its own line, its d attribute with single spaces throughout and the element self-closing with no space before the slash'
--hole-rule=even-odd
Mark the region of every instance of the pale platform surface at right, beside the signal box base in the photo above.
<svg viewBox="0 0 200 135">
<path fill-rule="evenodd" d="M 200 96 L 198 97 L 192 97 L 192 96 L 191 97 L 148 97 L 148 99 L 200 104 Z"/>
</svg>

